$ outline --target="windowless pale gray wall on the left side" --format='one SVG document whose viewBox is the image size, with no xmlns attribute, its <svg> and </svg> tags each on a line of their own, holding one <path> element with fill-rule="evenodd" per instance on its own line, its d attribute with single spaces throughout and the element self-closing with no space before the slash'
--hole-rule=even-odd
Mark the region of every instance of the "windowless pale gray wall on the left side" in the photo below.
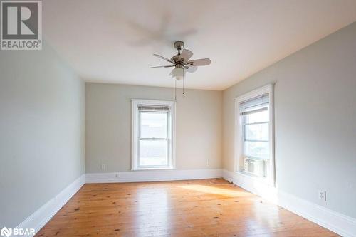
<svg viewBox="0 0 356 237">
<path fill-rule="evenodd" d="M 85 85 L 48 45 L 0 51 L 0 226 L 84 173 Z"/>
</svg>

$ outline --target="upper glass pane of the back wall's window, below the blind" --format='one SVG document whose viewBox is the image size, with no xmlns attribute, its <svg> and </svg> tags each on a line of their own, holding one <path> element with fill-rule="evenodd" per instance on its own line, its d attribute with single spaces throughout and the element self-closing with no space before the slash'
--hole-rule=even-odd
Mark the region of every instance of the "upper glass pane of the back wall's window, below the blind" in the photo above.
<svg viewBox="0 0 356 237">
<path fill-rule="evenodd" d="M 140 112 L 141 138 L 167 138 L 168 112 Z"/>
</svg>

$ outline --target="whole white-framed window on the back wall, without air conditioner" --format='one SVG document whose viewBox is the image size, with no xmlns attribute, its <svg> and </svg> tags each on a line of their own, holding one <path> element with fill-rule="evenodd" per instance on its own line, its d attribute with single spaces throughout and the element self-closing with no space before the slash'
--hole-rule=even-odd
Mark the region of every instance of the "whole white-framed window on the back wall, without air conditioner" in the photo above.
<svg viewBox="0 0 356 237">
<path fill-rule="evenodd" d="M 132 169 L 174 168 L 171 101 L 132 100 Z"/>
</svg>

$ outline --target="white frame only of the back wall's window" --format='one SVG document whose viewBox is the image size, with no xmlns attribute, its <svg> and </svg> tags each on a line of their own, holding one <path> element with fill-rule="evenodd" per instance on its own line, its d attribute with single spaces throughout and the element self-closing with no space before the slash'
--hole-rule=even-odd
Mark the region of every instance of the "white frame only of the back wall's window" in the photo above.
<svg viewBox="0 0 356 237">
<path fill-rule="evenodd" d="M 147 170 L 147 169 L 174 169 L 175 168 L 175 117 L 176 117 L 176 102 L 170 100 L 143 100 L 132 99 L 132 144 L 131 144 L 131 170 Z M 168 166 L 139 166 L 139 110 L 138 105 L 153 105 L 153 106 L 169 106 L 168 112 L 168 130 L 169 130 L 169 152 Z"/>
</svg>

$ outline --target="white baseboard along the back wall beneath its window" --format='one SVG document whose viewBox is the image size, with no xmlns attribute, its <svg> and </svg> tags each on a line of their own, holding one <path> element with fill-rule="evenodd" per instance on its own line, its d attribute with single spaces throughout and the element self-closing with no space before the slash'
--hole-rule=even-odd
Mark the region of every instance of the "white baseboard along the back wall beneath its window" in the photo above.
<svg viewBox="0 0 356 237">
<path fill-rule="evenodd" d="M 164 169 L 85 174 L 85 183 L 122 183 L 221 178 L 222 169 Z"/>
</svg>

